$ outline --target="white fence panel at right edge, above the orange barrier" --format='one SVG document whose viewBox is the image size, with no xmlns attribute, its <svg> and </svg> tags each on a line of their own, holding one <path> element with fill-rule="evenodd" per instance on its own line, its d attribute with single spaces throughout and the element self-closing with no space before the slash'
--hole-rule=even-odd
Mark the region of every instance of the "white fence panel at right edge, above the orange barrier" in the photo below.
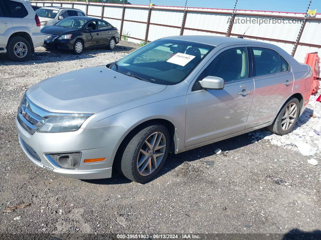
<svg viewBox="0 0 321 240">
<path fill-rule="evenodd" d="M 301 43 L 321 45 L 321 21 L 307 20 L 300 39 Z"/>
</svg>

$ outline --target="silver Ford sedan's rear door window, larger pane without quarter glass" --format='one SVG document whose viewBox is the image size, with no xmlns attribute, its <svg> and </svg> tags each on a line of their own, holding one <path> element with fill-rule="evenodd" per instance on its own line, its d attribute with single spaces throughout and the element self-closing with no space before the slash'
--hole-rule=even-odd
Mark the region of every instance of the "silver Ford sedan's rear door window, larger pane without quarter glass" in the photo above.
<svg viewBox="0 0 321 240">
<path fill-rule="evenodd" d="M 253 47 L 256 76 L 281 71 L 280 55 L 268 48 Z"/>
</svg>

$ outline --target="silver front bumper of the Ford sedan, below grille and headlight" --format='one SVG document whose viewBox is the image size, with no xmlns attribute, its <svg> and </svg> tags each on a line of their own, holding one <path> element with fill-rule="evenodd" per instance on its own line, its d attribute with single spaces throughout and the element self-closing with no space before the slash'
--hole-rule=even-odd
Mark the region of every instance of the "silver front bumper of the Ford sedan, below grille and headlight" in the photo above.
<svg viewBox="0 0 321 240">
<path fill-rule="evenodd" d="M 19 116 L 18 116 L 19 117 Z M 126 133 L 126 128 L 109 126 L 80 128 L 74 132 L 39 133 L 30 135 L 18 123 L 16 126 L 20 145 L 27 157 L 39 168 L 77 179 L 110 178 L 117 148 Z M 76 170 L 54 166 L 46 153 L 82 152 L 80 166 Z M 84 159 L 106 158 L 104 161 L 84 163 Z"/>
</svg>

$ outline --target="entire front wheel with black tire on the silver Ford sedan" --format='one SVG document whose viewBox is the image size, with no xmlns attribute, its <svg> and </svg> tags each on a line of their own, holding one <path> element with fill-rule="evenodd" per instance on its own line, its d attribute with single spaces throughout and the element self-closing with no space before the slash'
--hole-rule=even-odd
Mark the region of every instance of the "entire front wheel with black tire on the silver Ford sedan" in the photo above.
<svg viewBox="0 0 321 240">
<path fill-rule="evenodd" d="M 145 183 L 154 178 L 166 161 L 170 137 L 168 129 L 155 124 L 138 129 L 122 154 L 120 170 L 128 179 Z"/>
</svg>

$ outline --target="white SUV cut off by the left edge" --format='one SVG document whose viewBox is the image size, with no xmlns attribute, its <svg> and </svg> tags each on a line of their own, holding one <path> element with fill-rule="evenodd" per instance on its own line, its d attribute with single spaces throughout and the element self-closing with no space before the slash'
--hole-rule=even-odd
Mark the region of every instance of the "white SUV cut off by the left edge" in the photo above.
<svg viewBox="0 0 321 240">
<path fill-rule="evenodd" d="M 27 1 L 0 0 L 0 53 L 12 61 L 26 61 L 43 45 L 40 21 Z"/>
</svg>

